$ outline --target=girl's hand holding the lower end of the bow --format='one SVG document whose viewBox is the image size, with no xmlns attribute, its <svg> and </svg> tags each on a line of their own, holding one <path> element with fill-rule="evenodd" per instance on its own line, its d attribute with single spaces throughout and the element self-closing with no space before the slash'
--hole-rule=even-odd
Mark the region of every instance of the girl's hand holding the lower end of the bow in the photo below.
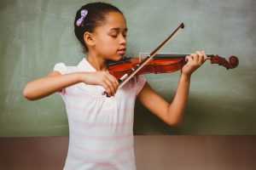
<svg viewBox="0 0 256 170">
<path fill-rule="evenodd" d="M 108 96 L 113 96 L 118 89 L 119 82 L 108 71 L 86 72 L 82 74 L 82 82 L 91 85 L 101 85 Z"/>
</svg>

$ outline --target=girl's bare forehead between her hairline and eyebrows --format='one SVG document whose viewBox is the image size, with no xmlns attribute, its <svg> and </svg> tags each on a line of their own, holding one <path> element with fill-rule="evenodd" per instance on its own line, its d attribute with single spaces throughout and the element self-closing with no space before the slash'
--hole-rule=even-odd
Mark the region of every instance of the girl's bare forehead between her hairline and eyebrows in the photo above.
<svg viewBox="0 0 256 170">
<path fill-rule="evenodd" d="M 127 30 L 126 20 L 123 14 L 118 12 L 110 12 L 106 15 L 106 19 L 102 26 L 98 26 L 96 30 L 115 30 L 116 28 L 120 30 Z"/>
</svg>

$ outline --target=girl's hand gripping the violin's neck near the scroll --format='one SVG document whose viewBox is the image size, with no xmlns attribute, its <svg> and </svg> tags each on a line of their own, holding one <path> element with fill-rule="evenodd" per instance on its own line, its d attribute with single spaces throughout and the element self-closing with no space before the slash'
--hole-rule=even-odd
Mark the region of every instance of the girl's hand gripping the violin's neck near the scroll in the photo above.
<svg viewBox="0 0 256 170">
<path fill-rule="evenodd" d="M 183 65 L 182 74 L 190 77 L 207 59 L 210 57 L 207 57 L 204 51 L 196 51 L 195 54 L 187 55 L 185 58 L 187 64 Z"/>
</svg>

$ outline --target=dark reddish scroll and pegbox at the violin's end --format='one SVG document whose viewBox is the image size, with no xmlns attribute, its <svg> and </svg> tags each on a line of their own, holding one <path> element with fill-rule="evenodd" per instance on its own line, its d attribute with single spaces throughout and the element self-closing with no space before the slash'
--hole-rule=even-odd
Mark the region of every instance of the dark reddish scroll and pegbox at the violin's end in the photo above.
<svg viewBox="0 0 256 170">
<path fill-rule="evenodd" d="M 231 55 L 228 61 L 224 57 L 220 57 L 219 55 L 214 55 L 211 57 L 211 63 L 222 65 L 228 70 L 228 69 L 236 68 L 236 66 L 239 64 L 239 59 L 236 56 Z"/>
</svg>

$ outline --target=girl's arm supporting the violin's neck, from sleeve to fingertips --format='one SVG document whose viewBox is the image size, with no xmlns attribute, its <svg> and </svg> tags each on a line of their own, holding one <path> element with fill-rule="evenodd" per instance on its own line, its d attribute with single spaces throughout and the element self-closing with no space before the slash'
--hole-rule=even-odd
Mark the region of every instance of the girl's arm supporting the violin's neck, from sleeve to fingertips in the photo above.
<svg viewBox="0 0 256 170">
<path fill-rule="evenodd" d="M 143 90 L 138 94 L 138 99 L 149 111 L 159 116 L 160 119 L 168 125 L 177 126 L 183 120 L 183 112 L 188 102 L 191 74 L 199 68 L 206 59 L 208 58 L 203 51 L 197 51 L 196 54 L 187 56 L 188 63 L 183 66 L 177 92 L 172 102 L 168 103 L 165 99 L 160 97 L 159 94 L 156 94 L 148 83 L 145 84 Z"/>
</svg>

